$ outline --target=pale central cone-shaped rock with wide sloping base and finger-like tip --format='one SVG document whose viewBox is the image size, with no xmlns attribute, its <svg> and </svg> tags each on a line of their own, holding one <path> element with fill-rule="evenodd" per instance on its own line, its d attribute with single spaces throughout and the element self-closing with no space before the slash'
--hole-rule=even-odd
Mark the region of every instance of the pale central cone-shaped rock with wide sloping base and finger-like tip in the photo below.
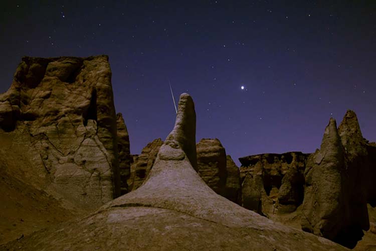
<svg viewBox="0 0 376 251">
<path fill-rule="evenodd" d="M 192 98 L 180 96 L 175 127 L 147 180 L 88 217 L 8 243 L 4 248 L 112 250 L 344 250 L 266 219 L 216 194 L 192 166 Z"/>
</svg>

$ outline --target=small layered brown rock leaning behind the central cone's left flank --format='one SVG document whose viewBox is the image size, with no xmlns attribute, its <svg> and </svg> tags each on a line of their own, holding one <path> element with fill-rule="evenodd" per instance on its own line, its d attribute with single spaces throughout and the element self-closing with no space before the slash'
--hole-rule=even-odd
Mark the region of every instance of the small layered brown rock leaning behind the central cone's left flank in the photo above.
<svg viewBox="0 0 376 251">
<path fill-rule="evenodd" d="M 145 181 L 162 145 L 163 141 L 161 139 L 153 140 L 142 149 L 140 155 L 133 158 L 131 174 L 128 180 L 129 191 L 136 190 Z"/>
</svg>

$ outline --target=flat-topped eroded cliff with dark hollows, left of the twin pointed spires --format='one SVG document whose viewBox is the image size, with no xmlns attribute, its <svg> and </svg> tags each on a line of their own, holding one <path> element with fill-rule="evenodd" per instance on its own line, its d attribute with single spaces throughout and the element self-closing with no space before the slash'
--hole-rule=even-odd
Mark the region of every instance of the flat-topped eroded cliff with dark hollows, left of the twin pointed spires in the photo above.
<svg viewBox="0 0 376 251">
<path fill-rule="evenodd" d="M 294 212 L 303 201 L 308 154 L 261 154 L 239 158 L 242 205 L 269 218 Z"/>
</svg>

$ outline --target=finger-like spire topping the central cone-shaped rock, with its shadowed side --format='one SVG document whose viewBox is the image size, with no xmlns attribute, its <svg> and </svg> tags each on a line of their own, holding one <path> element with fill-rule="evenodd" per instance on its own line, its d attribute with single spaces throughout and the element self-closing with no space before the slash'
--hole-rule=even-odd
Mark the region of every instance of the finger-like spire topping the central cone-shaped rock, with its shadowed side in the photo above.
<svg viewBox="0 0 376 251">
<path fill-rule="evenodd" d="M 196 156 L 196 111 L 192 97 L 182 93 L 176 114 L 175 126 L 167 136 L 165 144 L 177 142 L 197 171 Z"/>
</svg>

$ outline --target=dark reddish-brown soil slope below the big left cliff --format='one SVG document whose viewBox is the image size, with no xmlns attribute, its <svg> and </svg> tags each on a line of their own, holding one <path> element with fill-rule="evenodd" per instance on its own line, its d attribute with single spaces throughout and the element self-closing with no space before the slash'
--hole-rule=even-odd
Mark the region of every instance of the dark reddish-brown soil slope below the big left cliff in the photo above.
<svg viewBox="0 0 376 251">
<path fill-rule="evenodd" d="M 0 169 L 0 244 L 74 217 L 46 192 Z"/>
</svg>

